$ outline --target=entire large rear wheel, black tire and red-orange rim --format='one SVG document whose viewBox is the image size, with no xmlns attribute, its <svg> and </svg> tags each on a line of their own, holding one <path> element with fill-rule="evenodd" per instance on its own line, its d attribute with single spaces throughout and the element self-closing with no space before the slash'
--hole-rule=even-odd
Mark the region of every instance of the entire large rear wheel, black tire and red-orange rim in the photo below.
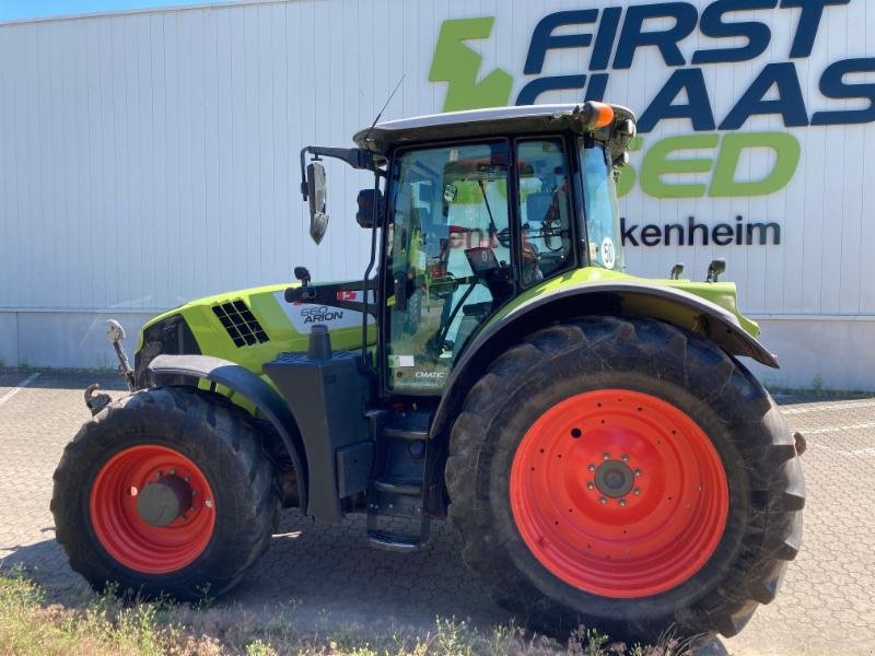
<svg viewBox="0 0 875 656">
<path fill-rule="evenodd" d="M 529 626 L 740 631 L 802 529 L 771 398 L 698 336 L 593 317 L 534 333 L 469 393 L 446 482 L 464 557 Z"/>
</svg>

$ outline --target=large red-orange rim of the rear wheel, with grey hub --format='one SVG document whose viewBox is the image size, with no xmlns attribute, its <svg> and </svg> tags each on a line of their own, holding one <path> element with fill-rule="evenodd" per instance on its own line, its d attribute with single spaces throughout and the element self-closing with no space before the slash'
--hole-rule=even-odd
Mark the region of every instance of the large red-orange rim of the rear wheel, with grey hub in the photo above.
<svg viewBox="0 0 875 656">
<path fill-rule="evenodd" d="M 713 555 L 728 514 L 720 455 L 685 412 L 654 396 L 573 396 L 524 435 L 511 508 L 534 557 L 563 582 L 629 599 L 669 590 Z"/>
</svg>

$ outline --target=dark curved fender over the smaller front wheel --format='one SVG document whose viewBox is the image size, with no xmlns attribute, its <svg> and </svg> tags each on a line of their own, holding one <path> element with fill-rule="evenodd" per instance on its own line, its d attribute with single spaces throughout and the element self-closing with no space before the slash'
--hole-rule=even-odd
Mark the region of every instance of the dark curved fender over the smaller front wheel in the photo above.
<svg viewBox="0 0 875 656">
<path fill-rule="evenodd" d="M 294 468 L 300 507 L 307 507 L 306 459 L 298 423 L 270 385 L 247 368 L 211 355 L 158 355 L 148 368 L 156 380 L 164 376 L 191 376 L 226 387 L 249 401 L 273 425 L 282 440 Z"/>
</svg>

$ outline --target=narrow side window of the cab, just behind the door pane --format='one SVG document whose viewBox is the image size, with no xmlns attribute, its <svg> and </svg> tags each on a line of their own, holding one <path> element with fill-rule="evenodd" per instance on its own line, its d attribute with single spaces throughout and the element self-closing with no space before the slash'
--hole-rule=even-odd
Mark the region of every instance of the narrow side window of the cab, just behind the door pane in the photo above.
<svg viewBox="0 0 875 656">
<path fill-rule="evenodd" d="M 523 284 L 572 263 L 571 185 L 561 139 L 516 143 Z"/>
</svg>

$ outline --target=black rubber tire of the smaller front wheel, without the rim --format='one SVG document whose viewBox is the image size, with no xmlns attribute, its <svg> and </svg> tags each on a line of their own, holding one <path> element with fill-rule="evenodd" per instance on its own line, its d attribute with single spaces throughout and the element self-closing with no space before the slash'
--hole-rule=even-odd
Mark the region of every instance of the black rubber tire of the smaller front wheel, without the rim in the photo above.
<svg viewBox="0 0 875 656">
<path fill-rule="evenodd" d="M 144 574 L 114 559 L 97 538 L 90 513 L 101 468 L 124 449 L 168 447 L 196 464 L 214 500 L 209 543 L 190 564 Z M 268 548 L 279 520 L 279 487 L 248 414 L 225 397 L 190 387 L 138 391 L 86 422 L 55 471 L 51 512 L 70 566 L 97 590 L 196 600 L 232 588 Z"/>
</svg>

